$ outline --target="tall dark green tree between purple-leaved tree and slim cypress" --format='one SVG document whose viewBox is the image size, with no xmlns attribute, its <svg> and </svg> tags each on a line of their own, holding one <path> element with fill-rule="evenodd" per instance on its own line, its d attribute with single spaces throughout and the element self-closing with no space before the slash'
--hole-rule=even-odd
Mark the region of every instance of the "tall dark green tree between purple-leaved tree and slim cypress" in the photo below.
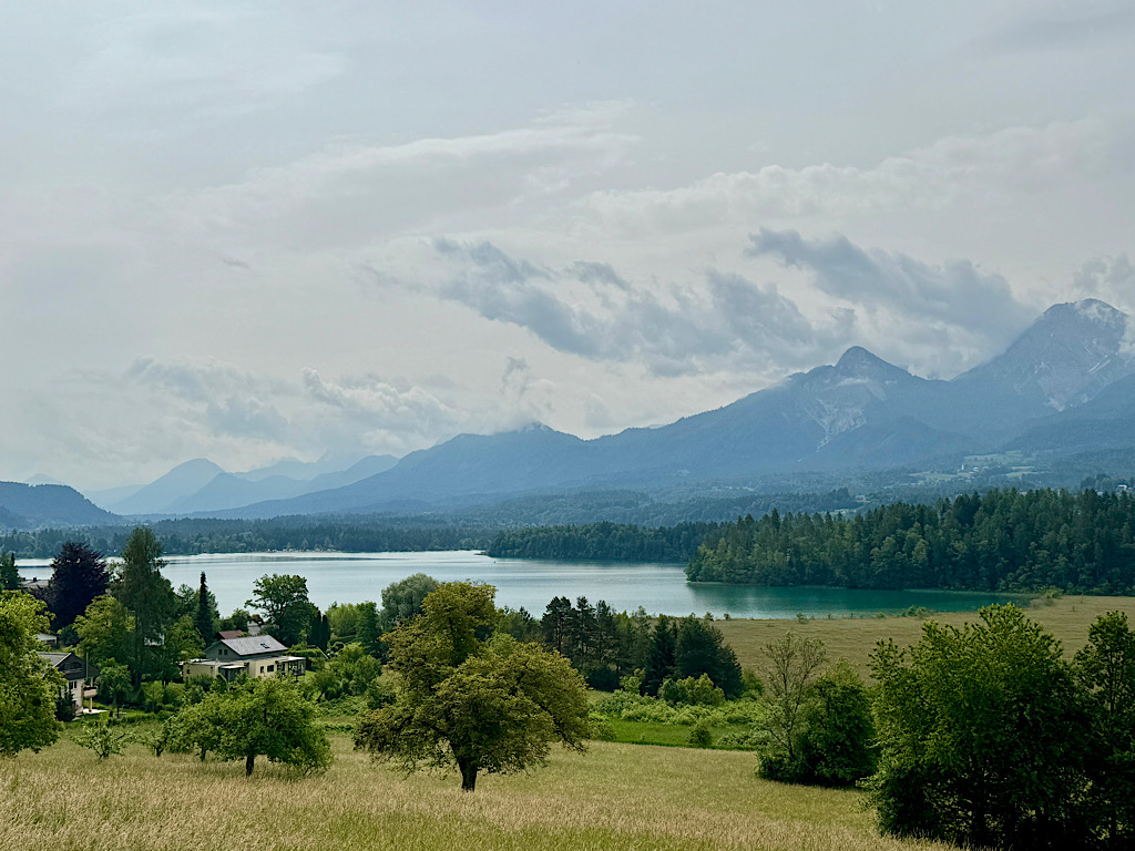
<svg viewBox="0 0 1135 851">
<path fill-rule="evenodd" d="M 165 638 L 173 623 L 177 598 L 161 574 L 161 544 L 152 530 L 135 529 L 123 548 L 123 564 L 111 582 L 111 593 L 134 615 L 131 650 L 126 659 L 134 683 L 168 673 Z"/>
</svg>

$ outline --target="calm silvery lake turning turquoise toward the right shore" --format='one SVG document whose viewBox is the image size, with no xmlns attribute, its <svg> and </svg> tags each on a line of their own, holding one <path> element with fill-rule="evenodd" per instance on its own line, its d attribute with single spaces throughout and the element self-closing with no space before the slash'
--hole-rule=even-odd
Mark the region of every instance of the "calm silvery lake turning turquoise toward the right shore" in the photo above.
<svg viewBox="0 0 1135 851">
<path fill-rule="evenodd" d="M 757 588 L 687 582 L 681 564 L 628 562 L 545 562 L 489 558 L 476 551 L 442 553 L 239 553 L 171 556 L 163 573 L 174 588 L 196 588 L 205 572 L 222 615 L 243 607 L 252 583 L 266 573 L 297 573 L 308 579 L 311 601 L 380 603 L 382 589 L 412 573 L 428 573 L 443 582 L 473 580 L 497 588 L 497 605 L 523 606 L 539 617 L 553 597 L 606 600 L 616 610 L 642 606 L 650 614 L 715 617 L 791 618 L 894 614 L 910 606 L 935 612 L 975 610 L 1007 603 L 1014 595 L 967 591 L 868 591 L 846 588 Z M 49 561 L 18 562 L 27 578 L 50 574 Z M 1019 597 L 1016 597 L 1019 599 Z"/>
</svg>

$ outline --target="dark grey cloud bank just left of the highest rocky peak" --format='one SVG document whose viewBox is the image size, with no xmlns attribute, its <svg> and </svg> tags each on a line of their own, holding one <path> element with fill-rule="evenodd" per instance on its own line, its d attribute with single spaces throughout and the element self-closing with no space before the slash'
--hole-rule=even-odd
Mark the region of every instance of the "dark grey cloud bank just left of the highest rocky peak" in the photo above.
<svg viewBox="0 0 1135 851">
<path fill-rule="evenodd" d="M 821 290 L 857 310 L 952 326 L 995 340 L 1035 318 L 1002 276 L 968 260 L 923 263 L 900 252 L 863 248 L 840 235 L 807 239 L 796 230 L 767 229 L 749 237 L 746 253 L 810 272 Z"/>
</svg>

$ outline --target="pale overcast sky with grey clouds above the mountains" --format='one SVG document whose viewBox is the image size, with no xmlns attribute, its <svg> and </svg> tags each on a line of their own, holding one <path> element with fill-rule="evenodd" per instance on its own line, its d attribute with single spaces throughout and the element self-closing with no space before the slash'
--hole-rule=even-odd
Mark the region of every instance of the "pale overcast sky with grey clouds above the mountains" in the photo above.
<svg viewBox="0 0 1135 851">
<path fill-rule="evenodd" d="M 1135 3 L 0 10 L 0 480 L 951 378 L 1135 311 Z"/>
</svg>

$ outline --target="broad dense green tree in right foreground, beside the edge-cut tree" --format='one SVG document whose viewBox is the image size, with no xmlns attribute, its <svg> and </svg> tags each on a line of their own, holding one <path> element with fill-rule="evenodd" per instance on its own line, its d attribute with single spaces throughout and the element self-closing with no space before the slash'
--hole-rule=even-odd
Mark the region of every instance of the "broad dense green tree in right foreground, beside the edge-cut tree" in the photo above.
<svg viewBox="0 0 1135 851">
<path fill-rule="evenodd" d="M 872 657 L 884 831 L 975 848 L 1084 844 L 1085 697 L 1060 643 L 1014 606 L 927 623 Z"/>
</svg>

